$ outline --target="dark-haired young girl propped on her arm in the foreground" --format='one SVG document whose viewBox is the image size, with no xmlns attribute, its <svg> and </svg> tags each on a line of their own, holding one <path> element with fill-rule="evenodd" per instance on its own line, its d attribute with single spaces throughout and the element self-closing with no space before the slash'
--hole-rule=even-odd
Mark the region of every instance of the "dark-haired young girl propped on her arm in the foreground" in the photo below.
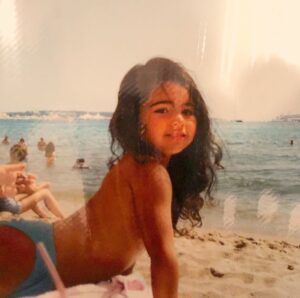
<svg viewBox="0 0 300 298">
<path fill-rule="evenodd" d="M 155 58 L 125 75 L 109 129 L 110 170 L 84 207 L 52 225 L 0 225 L 1 297 L 53 288 L 38 241 L 66 286 L 128 274 L 146 249 L 153 296 L 177 297 L 173 230 L 179 218 L 201 225 L 200 193 L 215 180 L 206 105 L 181 65 Z"/>
</svg>

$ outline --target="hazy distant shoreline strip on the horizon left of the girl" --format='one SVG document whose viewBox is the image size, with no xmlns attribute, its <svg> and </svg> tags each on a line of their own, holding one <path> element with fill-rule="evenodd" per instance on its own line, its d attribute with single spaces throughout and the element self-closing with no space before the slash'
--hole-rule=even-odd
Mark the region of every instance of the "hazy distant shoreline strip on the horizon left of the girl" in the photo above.
<svg viewBox="0 0 300 298">
<path fill-rule="evenodd" d="M 110 119 L 110 112 L 87 111 L 26 111 L 0 113 L 0 120 L 76 121 Z"/>
</svg>

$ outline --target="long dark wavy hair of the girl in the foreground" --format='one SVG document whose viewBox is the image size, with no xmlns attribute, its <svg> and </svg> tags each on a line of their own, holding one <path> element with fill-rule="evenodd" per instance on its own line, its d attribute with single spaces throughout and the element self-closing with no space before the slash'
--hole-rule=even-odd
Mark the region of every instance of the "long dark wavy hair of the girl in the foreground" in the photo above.
<svg viewBox="0 0 300 298">
<path fill-rule="evenodd" d="M 193 142 L 182 152 L 171 157 L 168 172 L 172 182 L 172 221 L 176 229 L 178 219 L 188 219 L 192 226 L 201 226 L 200 209 L 203 196 L 211 198 L 216 181 L 215 162 L 222 156 L 220 146 L 211 132 L 206 104 L 192 77 L 178 63 L 166 58 L 153 58 L 146 64 L 131 68 L 123 78 L 118 104 L 109 124 L 111 152 L 108 165 L 130 153 L 138 162 L 145 157 L 158 157 L 158 152 L 141 137 L 140 107 L 151 92 L 164 82 L 185 87 L 193 102 L 197 131 Z"/>
</svg>

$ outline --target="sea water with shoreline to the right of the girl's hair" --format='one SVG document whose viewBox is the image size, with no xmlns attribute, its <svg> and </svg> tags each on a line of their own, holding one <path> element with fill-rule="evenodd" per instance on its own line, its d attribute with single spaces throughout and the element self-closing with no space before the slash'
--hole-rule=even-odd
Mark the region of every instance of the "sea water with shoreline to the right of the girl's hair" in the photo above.
<svg viewBox="0 0 300 298">
<path fill-rule="evenodd" d="M 204 225 L 300 239 L 300 122 L 216 121 L 214 128 L 225 169 Z"/>
</svg>

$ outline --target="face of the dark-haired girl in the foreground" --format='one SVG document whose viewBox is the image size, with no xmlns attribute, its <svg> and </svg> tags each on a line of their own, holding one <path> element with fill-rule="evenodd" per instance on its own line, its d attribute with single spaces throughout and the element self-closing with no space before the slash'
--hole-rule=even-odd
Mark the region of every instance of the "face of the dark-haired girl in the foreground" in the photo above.
<svg viewBox="0 0 300 298">
<path fill-rule="evenodd" d="M 142 136 L 169 161 L 193 141 L 197 120 L 194 105 L 186 88 L 174 82 L 165 82 L 154 89 L 141 107 Z"/>
</svg>

